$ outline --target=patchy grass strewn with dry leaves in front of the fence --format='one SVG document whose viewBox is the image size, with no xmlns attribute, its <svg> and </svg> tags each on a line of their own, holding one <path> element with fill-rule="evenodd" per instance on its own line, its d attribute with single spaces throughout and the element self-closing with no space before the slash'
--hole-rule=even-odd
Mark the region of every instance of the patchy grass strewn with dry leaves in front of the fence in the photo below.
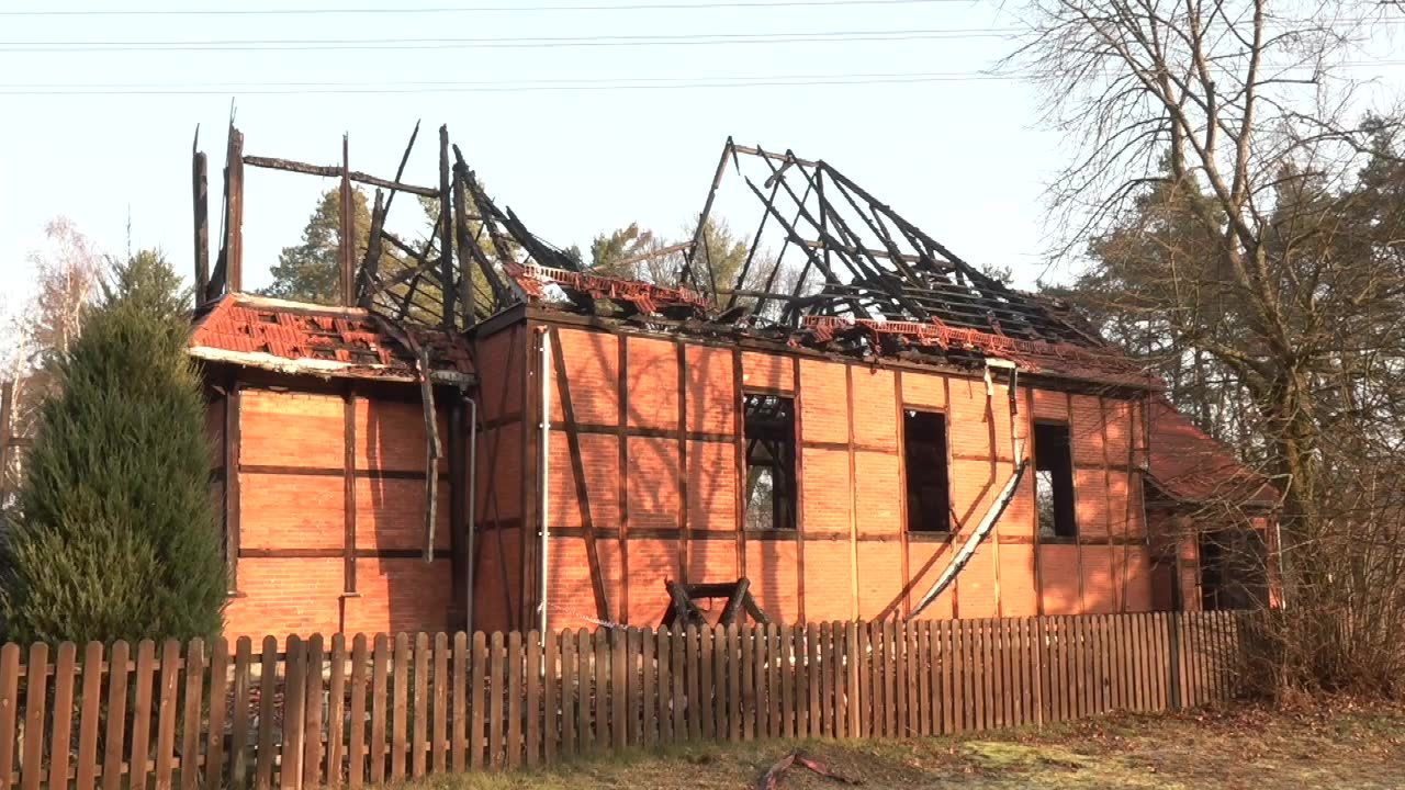
<svg viewBox="0 0 1405 790">
<path fill-rule="evenodd" d="M 405 790 L 745 789 L 801 746 L 867 787 L 1246 789 L 1405 787 L 1405 708 L 1336 703 L 1096 721 L 978 738 L 766 741 L 582 759 L 554 770 L 438 776 Z M 784 789 L 842 784 L 799 768 Z"/>
</svg>

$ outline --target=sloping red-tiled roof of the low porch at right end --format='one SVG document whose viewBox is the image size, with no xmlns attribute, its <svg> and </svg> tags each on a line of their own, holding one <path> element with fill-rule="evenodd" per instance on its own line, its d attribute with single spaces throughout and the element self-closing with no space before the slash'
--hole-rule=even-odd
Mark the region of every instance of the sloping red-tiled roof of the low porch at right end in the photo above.
<svg viewBox="0 0 1405 790">
<path fill-rule="evenodd" d="M 1162 398 L 1151 401 L 1151 477 L 1182 502 L 1270 507 L 1279 492 Z"/>
</svg>

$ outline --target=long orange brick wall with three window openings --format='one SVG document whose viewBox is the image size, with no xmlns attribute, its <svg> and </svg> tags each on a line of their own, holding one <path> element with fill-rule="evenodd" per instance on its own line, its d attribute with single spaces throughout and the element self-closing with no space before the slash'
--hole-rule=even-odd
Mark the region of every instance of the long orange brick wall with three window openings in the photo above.
<svg viewBox="0 0 1405 790">
<path fill-rule="evenodd" d="M 558 541 L 562 545 L 552 562 L 554 611 L 594 616 L 579 534 L 576 464 L 566 441 L 569 426 L 559 425 L 563 396 L 576 415 L 577 464 L 599 533 L 600 572 L 611 590 L 610 614 L 625 614 L 631 624 L 658 621 L 667 604 L 665 579 L 718 582 L 740 574 L 774 617 L 832 620 L 909 611 L 946 569 L 955 545 L 905 534 L 903 406 L 946 413 L 958 544 L 1013 471 L 1013 437 L 1028 447 L 1034 419 L 1068 423 L 1073 437 L 1079 540 L 1035 541 L 1031 475 L 958 583 L 924 617 L 1146 610 L 1152 604 L 1141 477 L 1134 471 L 1142 446 L 1137 403 L 1021 385 L 1012 425 L 1007 384 L 999 375 L 988 395 L 984 380 L 961 375 L 565 325 L 556 326 L 556 337 L 568 381 L 565 388 L 552 388 L 558 426 L 551 439 L 549 510 L 554 530 L 563 533 L 552 541 L 554 551 Z M 733 381 L 738 371 L 739 382 Z M 797 398 L 798 534 L 743 530 L 739 540 L 718 540 L 738 530 L 740 389 Z M 681 447 L 680 410 L 687 420 Z M 690 540 L 680 534 L 684 523 Z"/>
</svg>

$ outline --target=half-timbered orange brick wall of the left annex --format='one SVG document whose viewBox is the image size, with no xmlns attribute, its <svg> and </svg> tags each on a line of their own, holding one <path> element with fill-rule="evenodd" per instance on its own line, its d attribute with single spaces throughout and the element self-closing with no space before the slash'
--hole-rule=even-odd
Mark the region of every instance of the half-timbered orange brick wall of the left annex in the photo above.
<svg viewBox="0 0 1405 790">
<path fill-rule="evenodd" d="M 426 562 L 419 391 L 239 378 L 221 389 L 209 425 L 216 492 L 229 489 L 226 635 L 448 628 L 448 467 Z"/>
</svg>

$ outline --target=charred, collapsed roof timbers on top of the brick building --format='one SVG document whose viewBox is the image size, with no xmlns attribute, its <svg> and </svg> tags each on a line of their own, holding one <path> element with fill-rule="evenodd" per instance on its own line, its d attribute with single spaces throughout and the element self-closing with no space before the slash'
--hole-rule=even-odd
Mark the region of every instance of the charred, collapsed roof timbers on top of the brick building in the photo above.
<svg viewBox="0 0 1405 790">
<path fill-rule="evenodd" d="M 344 195 L 351 183 L 375 187 L 365 256 L 357 261 L 351 249 L 339 254 L 341 302 L 396 325 L 466 332 L 509 306 L 538 304 L 652 330 L 929 363 L 978 365 L 999 357 L 1051 377 L 1155 384 L 1072 311 L 982 273 L 823 160 L 728 139 L 693 239 L 622 261 L 681 253 L 667 281 L 651 283 L 590 273 L 532 233 L 488 195 L 447 128 L 438 135 L 438 187 L 405 183 L 417 136 L 419 125 L 395 176 L 381 179 L 351 170 L 346 143 L 333 166 L 244 156 L 243 135 L 230 127 L 221 249 L 208 277 L 205 160 L 197 152 L 195 260 L 207 299 L 240 288 L 243 166 L 250 164 L 337 177 Z M 759 218 L 745 259 L 724 267 L 707 229 L 729 170 Z M 437 198 L 434 229 L 424 239 L 405 240 L 386 229 L 402 191 Z M 341 238 L 354 239 L 351 211 L 343 211 L 341 224 Z"/>
</svg>

